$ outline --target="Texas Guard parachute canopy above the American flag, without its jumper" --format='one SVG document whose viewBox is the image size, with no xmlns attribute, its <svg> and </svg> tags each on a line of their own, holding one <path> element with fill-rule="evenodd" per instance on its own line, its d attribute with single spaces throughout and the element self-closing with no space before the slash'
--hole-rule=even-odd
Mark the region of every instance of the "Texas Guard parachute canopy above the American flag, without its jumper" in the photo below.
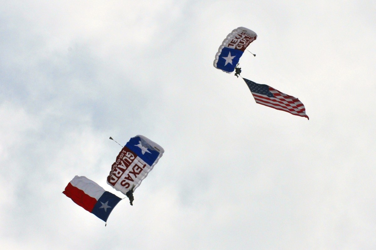
<svg viewBox="0 0 376 250">
<path fill-rule="evenodd" d="M 223 40 L 222 45 L 215 55 L 214 67 L 221 69 L 223 72 L 233 72 L 244 50 L 256 38 L 256 33 L 250 29 L 238 27 L 232 30 L 226 39 Z"/>
</svg>

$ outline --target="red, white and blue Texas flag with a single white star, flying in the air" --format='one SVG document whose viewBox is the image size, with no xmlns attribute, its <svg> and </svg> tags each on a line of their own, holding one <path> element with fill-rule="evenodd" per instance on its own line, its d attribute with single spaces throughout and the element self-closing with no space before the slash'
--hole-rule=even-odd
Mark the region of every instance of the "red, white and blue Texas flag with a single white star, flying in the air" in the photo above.
<svg viewBox="0 0 376 250">
<path fill-rule="evenodd" d="M 68 183 L 63 194 L 71 198 L 74 203 L 107 222 L 112 209 L 118 204 L 121 198 L 105 191 L 92 180 L 85 176 L 75 176 Z"/>
</svg>

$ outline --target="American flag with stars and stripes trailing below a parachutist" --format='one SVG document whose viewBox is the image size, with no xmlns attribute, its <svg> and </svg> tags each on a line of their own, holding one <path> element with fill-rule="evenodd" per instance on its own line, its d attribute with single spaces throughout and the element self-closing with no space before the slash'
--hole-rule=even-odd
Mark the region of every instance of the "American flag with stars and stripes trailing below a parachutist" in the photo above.
<svg viewBox="0 0 376 250">
<path fill-rule="evenodd" d="M 296 116 L 307 117 L 302 102 L 294 96 L 286 95 L 268 85 L 258 84 L 243 78 L 251 91 L 256 103 L 262 104 L 277 110 L 283 110 Z"/>
</svg>

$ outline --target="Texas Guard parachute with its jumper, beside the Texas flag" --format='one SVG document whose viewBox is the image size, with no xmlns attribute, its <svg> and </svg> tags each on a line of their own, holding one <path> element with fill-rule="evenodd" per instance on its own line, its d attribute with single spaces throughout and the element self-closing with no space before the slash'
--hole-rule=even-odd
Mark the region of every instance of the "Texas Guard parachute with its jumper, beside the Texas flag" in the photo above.
<svg viewBox="0 0 376 250">
<path fill-rule="evenodd" d="M 112 164 L 107 184 L 133 202 L 133 192 L 162 157 L 164 149 L 144 136 L 132 137 Z"/>
</svg>

